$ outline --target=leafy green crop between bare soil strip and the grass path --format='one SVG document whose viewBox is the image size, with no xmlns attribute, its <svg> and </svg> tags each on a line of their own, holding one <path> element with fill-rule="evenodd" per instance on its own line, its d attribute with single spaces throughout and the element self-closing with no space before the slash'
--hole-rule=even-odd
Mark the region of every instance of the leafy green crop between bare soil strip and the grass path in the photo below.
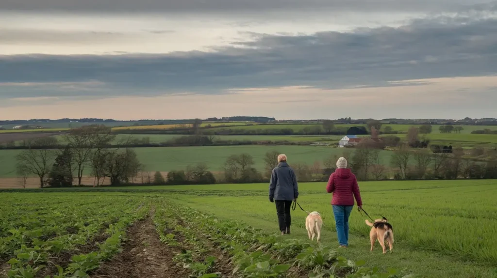
<svg viewBox="0 0 497 278">
<path fill-rule="evenodd" d="M 190 246 L 175 259 L 190 268 L 196 277 L 221 275 L 210 272 L 216 270 L 216 258 L 201 260 L 209 248 L 219 249 L 229 257 L 223 264 L 230 265 L 234 277 L 400 277 L 394 269 L 383 272 L 365 267 L 364 261 L 347 260 L 329 246 L 283 240 L 281 236 L 265 234 L 242 222 L 221 221 L 177 204 L 158 206 L 154 222 L 162 242 L 183 248 Z M 181 242 L 175 239 L 177 234 L 181 235 Z"/>
</svg>

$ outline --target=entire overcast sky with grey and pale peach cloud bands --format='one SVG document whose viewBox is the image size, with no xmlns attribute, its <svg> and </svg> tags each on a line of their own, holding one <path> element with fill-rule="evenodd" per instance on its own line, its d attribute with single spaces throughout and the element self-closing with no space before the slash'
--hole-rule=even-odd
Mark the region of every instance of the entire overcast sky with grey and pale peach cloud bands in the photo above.
<svg viewBox="0 0 497 278">
<path fill-rule="evenodd" d="M 0 1 L 0 119 L 497 117 L 496 74 L 497 1 Z"/>
</svg>

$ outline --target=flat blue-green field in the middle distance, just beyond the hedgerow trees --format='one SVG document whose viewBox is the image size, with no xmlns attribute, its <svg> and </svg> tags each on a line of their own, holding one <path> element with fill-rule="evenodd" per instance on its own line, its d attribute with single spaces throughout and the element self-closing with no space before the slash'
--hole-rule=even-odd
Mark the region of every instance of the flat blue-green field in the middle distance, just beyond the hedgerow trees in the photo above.
<svg viewBox="0 0 497 278">
<path fill-rule="evenodd" d="M 263 158 L 266 152 L 277 150 L 288 156 L 288 162 L 314 164 L 330 155 L 341 155 L 344 149 L 318 146 L 212 146 L 212 147 L 161 147 L 133 148 L 138 159 L 148 171 L 169 171 L 185 169 L 188 165 L 206 163 L 210 171 L 220 171 L 230 155 L 250 154 L 254 167 L 264 169 Z M 15 156 L 21 150 L 0 150 L 0 178 L 15 177 Z M 381 151 L 382 163 L 388 164 L 390 152 Z"/>
</svg>

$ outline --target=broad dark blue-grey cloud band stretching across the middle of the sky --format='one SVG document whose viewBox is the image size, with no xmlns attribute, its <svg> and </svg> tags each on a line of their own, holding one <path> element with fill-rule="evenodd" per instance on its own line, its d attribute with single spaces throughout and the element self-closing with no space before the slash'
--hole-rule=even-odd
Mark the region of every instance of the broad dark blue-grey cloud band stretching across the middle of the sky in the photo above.
<svg viewBox="0 0 497 278">
<path fill-rule="evenodd" d="M 497 74 L 496 18 L 430 22 L 351 33 L 252 34 L 251 42 L 213 52 L 0 56 L 0 82 L 98 81 L 106 84 L 101 88 L 105 95 L 153 96 L 254 87 L 412 86 L 418 83 L 392 81 Z M 9 88 L 0 86 L 0 96 L 62 94 Z"/>
</svg>

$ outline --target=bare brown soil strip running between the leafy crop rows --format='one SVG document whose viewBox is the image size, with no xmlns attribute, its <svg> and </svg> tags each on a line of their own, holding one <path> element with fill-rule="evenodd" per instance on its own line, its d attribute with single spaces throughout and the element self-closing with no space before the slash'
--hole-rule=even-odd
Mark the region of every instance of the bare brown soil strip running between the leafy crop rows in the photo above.
<svg viewBox="0 0 497 278">
<path fill-rule="evenodd" d="M 179 278 L 187 277 L 185 269 L 174 264 L 179 250 L 162 244 L 152 219 L 137 222 L 128 229 L 130 239 L 123 252 L 104 263 L 91 278 Z"/>
</svg>

